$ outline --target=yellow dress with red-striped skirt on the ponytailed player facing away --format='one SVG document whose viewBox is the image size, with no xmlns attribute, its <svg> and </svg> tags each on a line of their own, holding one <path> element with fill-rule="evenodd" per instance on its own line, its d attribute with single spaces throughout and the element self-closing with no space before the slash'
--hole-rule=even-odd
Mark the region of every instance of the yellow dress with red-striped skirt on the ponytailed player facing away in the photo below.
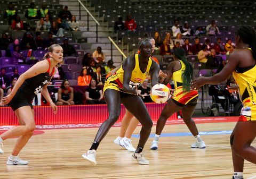
<svg viewBox="0 0 256 179">
<path fill-rule="evenodd" d="M 191 90 L 188 92 L 183 91 L 182 72 L 185 71 L 186 65 L 180 60 L 179 62 L 181 64 L 180 70 L 177 70 L 172 74 L 175 89 L 172 100 L 178 106 L 197 105 L 198 92 L 196 90 Z"/>
</svg>

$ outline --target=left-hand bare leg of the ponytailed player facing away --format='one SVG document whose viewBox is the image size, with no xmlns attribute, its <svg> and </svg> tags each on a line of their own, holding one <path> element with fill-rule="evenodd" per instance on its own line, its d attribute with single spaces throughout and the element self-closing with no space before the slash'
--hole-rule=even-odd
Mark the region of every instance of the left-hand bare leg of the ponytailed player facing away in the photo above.
<svg viewBox="0 0 256 179">
<path fill-rule="evenodd" d="M 172 100 L 169 100 L 162 110 L 156 124 L 156 134 L 161 135 L 167 119 L 178 110 L 182 109 L 181 106 L 176 105 Z"/>
</svg>

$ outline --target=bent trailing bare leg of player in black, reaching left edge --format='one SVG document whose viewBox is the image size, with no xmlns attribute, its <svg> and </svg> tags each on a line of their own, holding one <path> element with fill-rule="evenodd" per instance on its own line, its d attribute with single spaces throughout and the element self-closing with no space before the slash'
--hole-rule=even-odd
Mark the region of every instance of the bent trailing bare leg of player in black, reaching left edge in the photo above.
<svg viewBox="0 0 256 179">
<path fill-rule="evenodd" d="M 30 106 L 22 106 L 15 110 L 15 114 L 22 121 L 20 126 L 13 127 L 0 135 L 3 140 L 33 133 L 35 130 L 34 113 Z"/>
</svg>

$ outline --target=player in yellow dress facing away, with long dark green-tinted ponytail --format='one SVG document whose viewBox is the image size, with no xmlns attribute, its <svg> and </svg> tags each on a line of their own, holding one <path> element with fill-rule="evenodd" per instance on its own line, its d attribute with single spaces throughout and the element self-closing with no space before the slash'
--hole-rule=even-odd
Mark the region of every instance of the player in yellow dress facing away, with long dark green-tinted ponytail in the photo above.
<svg viewBox="0 0 256 179">
<path fill-rule="evenodd" d="M 163 84 L 167 84 L 170 79 L 174 81 L 173 97 L 168 101 L 162 110 L 161 115 L 157 120 L 155 138 L 150 149 L 158 148 L 159 137 L 164 129 L 167 118 L 173 113 L 182 110 L 183 121 L 188 126 L 189 131 L 194 135 L 196 143 L 192 144 L 192 148 L 205 148 L 205 143 L 202 141 L 196 124 L 191 119 L 198 101 L 198 92 L 190 90 L 190 82 L 193 79 L 193 67 L 186 59 L 186 52 L 183 48 L 174 50 L 174 61 L 172 61 L 166 69 L 167 77 Z"/>
</svg>

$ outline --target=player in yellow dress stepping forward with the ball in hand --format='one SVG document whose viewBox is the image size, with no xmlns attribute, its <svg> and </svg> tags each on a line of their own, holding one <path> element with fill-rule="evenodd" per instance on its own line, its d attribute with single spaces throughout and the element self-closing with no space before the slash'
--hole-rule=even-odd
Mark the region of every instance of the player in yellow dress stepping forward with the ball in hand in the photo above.
<svg viewBox="0 0 256 179">
<path fill-rule="evenodd" d="M 121 102 L 142 124 L 139 144 L 132 155 L 133 159 L 142 165 L 149 164 L 141 152 L 149 137 L 153 122 L 145 104 L 138 96 L 137 87 L 146 79 L 148 74 L 151 76 L 151 85 L 157 84 L 159 65 L 150 58 L 153 48 L 149 38 L 141 39 L 138 48 L 140 54 L 127 57 L 121 67 L 105 81 L 103 91 L 108 105 L 109 117 L 100 126 L 90 150 L 83 154 L 83 157 L 94 165 L 96 164 L 95 155 L 99 143 L 108 133 L 110 127 L 118 120 Z"/>
</svg>

